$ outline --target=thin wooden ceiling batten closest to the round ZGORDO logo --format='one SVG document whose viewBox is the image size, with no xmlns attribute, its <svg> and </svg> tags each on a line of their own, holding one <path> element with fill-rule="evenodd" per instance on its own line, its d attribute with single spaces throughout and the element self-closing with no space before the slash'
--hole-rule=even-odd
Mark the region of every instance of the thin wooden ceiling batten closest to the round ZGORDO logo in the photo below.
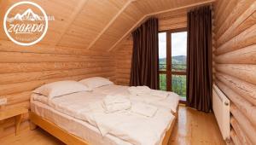
<svg viewBox="0 0 256 145">
<path fill-rule="evenodd" d="M 63 36 L 67 32 L 68 28 L 72 25 L 73 20 L 76 19 L 77 15 L 82 11 L 82 9 L 84 8 L 84 5 L 88 1 L 89 0 L 80 0 L 79 3 L 76 4 L 76 7 L 74 8 L 73 13 L 70 15 L 69 19 L 67 20 L 67 23 L 62 27 L 61 34 L 56 36 L 55 43 L 52 44 L 52 46 L 56 46 L 57 44 L 60 43 L 61 38 L 63 38 Z"/>
</svg>

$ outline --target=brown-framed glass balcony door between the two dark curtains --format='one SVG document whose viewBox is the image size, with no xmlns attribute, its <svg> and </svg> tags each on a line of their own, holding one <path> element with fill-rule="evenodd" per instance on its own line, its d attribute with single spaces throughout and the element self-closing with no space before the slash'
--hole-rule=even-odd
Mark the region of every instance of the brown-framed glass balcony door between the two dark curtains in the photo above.
<svg viewBox="0 0 256 145">
<path fill-rule="evenodd" d="M 186 98 L 187 32 L 185 29 L 159 32 L 160 90 Z"/>
</svg>

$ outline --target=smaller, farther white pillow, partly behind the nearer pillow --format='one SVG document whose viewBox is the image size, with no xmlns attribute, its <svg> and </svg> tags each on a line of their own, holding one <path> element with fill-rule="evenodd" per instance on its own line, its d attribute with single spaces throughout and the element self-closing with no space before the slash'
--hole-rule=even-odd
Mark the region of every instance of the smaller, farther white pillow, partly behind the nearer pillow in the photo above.
<svg viewBox="0 0 256 145">
<path fill-rule="evenodd" d="M 88 86 L 90 89 L 102 87 L 104 85 L 113 84 L 109 79 L 102 77 L 85 78 L 79 81 L 80 83 Z"/>
</svg>

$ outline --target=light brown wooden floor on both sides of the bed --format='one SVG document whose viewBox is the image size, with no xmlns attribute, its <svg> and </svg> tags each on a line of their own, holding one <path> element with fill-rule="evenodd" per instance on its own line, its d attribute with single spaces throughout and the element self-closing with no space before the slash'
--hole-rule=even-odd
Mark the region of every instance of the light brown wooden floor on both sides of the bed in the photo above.
<svg viewBox="0 0 256 145">
<path fill-rule="evenodd" d="M 19 136 L 7 136 L 0 139 L 1 145 L 59 145 L 63 144 L 47 132 L 21 131 Z M 212 113 L 200 113 L 193 109 L 181 106 L 179 119 L 172 133 L 170 144 L 224 144 L 218 125 Z"/>
</svg>

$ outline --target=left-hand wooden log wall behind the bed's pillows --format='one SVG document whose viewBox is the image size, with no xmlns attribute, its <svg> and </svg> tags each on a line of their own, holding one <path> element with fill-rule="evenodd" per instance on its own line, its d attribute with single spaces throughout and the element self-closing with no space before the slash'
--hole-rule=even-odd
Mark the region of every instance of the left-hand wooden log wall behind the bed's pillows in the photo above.
<svg viewBox="0 0 256 145">
<path fill-rule="evenodd" d="M 7 108 L 30 107 L 31 91 L 42 84 L 59 80 L 79 80 L 93 76 L 113 80 L 114 63 L 108 52 L 50 47 L 38 44 L 21 47 L 0 40 L 0 97 Z M 21 128 L 28 126 L 25 115 Z M 14 132 L 14 119 L 0 123 L 0 137 Z"/>
</svg>

